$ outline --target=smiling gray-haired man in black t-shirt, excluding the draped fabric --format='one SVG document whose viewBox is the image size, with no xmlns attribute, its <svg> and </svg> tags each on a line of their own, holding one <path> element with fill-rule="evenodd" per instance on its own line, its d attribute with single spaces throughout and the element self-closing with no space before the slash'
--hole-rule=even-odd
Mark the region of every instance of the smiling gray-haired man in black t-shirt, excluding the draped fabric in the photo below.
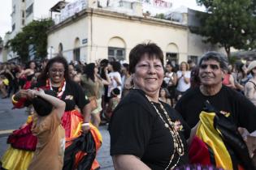
<svg viewBox="0 0 256 170">
<path fill-rule="evenodd" d="M 188 90 L 176 104 L 176 110 L 193 127 L 206 100 L 220 113 L 229 115 L 236 126 L 250 133 L 256 130 L 256 107 L 240 93 L 222 84 L 223 70 L 228 69 L 226 57 L 221 53 L 205 53 L 199 62 L 200 87 Z"/>
</svg>

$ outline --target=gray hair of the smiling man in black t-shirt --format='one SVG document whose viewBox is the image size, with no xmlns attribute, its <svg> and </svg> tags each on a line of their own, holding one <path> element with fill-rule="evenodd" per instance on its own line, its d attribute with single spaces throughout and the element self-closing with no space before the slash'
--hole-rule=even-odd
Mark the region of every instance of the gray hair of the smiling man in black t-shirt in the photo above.
<svg viewBox="0 0 256 170">
<path fill-rule="evenodd" d="M 202 65 L 203 61 L 208 60 L 215 60 L 216 62 L 219 62 L 219 66 L 221 69 L 228 70 L 228 60 L 227 57 L 223 55 L 223 53 L 215 51 L 209 51 L 207 53 L 204 53 L 200 59 L 199 66 Z"/>
</svg>

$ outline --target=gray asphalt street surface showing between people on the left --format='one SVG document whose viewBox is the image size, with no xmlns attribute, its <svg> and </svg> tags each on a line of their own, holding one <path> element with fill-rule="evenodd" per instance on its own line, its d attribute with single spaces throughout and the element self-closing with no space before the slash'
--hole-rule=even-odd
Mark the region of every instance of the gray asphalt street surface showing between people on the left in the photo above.
<svg viewBox="0 0 256 170">
<path fill-rule="evenodd" d="M 0 99 L 0 157 L 7 150 L 7 137 L 12 130 L 16 130 L 23 125 L 28 118 L 25 109 L 11 109 L 11 99 Z M 110 156 L 110 135 L 107 126 L 99 127 L 102 134 L 102 147 L 98 151 L 97 160 L 101 165 L 101 170 L 112 170 L 113 163 Z"/>
</svg>

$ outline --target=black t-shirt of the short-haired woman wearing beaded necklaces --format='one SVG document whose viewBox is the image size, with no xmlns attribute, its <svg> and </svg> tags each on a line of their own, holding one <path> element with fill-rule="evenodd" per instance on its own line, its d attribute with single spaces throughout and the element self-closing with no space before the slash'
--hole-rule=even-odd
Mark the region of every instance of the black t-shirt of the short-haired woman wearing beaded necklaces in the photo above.
<svg viewBox="0 0 256 170">
<path fill-rule="evenodd" d="M 163 115 L 160 104 L 154 103 L 158 111 Z M 184 143 L 184 155 L 179 164 L 188 164 L 188 151 L 185 138 L 189 138 L 189 126 L 182 120 L 179 113 L 163 104 L 169 113 L 171 121 L 180 120 L 184 126 L 180 137 Z M 165 121 L 166 118 L 164 118 Z M 163 121 L 156 113 L 154 107 L 145 98 L 140 90 L 132 90 L 122 100 L 111 117 L 109 127 L 111 134 L 111 155 L 136 155 L 141 161 L 152 169 L 164 169 L 169 164 L 173 154 L 173 138 L 170 131 L 164 127 Z M 176 164 L 177 153 L 171 161 L 171 166 Z M 169 168 L 171 168 L 169 166 Z"/>
</svg>

